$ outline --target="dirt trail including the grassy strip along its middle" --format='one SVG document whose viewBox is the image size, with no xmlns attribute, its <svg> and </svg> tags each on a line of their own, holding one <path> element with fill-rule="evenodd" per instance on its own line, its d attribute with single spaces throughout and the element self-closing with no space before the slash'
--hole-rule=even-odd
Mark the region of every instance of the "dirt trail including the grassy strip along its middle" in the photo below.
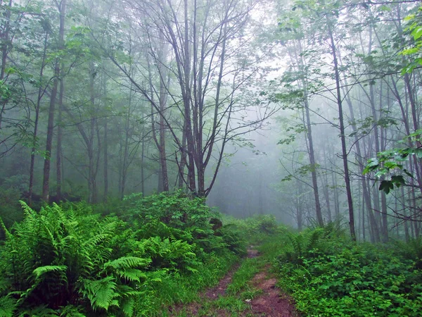
<svg viewBox="0 0 422 317">
<path fill-rule="evenodd" d="M 174 306 L 170 316 L 299 317 L 292 299 L 276 287 L 271 266 L 254 247 L 219 284 L 199 294 L 191 304 Z"/>
</svg>

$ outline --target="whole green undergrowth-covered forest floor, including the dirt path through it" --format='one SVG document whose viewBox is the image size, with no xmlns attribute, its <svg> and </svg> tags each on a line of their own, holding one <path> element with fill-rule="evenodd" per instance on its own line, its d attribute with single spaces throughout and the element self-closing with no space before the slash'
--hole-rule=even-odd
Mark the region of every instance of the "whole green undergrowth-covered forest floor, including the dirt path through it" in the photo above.
<svg viewBox="0 0 422 317">
<path fill-rule="evenodd" d="M 0 222 L 0 316 L 422 316 L 421 239 L 295 232 L 182 192 L 111 210 L 23 204 L 22 221 Z"/>
</svg>

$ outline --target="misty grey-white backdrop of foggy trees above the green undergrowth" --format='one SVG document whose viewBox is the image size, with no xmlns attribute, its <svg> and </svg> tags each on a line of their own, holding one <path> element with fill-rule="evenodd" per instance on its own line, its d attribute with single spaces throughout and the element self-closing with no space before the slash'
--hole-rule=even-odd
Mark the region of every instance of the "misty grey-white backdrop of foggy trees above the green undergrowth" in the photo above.
<svg viewBox="0 0 422 317">
<path fill-rule="evenodd" d="M 239 218 L 417 237 L 418 2 L 311 2 L 2 7 L 0 217 L 181 190 Z"/>
</svg>

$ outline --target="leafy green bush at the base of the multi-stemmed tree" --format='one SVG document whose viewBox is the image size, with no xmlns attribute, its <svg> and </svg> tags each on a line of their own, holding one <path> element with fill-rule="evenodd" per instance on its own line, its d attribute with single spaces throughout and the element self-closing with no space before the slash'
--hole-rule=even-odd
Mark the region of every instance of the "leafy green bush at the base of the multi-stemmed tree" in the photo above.
<svg viewBox="0 0 422 317">
<path fill-rule="evenodd" d="M 182 242 L 187 242 L 183 247 L 196 244 L 198 254 L 224 251 L 226 248 L 236 254 L 245 254 L 245 245 L 238 232 L 214 228 L 210 223 L 212 219 L 219 219 L 220 215 L 206 206 L 203 199 L 189 197 L 178 191 L 148 197 L 132 194 L 125 197 L 125 201 L 130 205 L 127 212 L 130 215 L 129 222 L 136 224 L 138 228 L 138 239 L 160 237 L 161 244 L 168 246 Z M 155 242 L 158 246 L 158 240 Z M 187 265 L 186 268 L 188 266 L 190 267 Z"/>
</svg>

